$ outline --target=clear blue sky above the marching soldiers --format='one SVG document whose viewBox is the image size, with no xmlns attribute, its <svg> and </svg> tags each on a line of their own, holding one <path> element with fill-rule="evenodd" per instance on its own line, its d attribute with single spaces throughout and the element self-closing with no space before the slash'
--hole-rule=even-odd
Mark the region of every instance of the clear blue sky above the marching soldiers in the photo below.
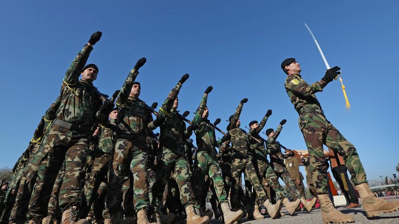
<svg viewBox="0 0 399 224">
<path fill-rule="evenodd" d="M 329 84 L 316 95 L 328 120 L 356 146 L 369 179 L 391 176 L 399 162 L 398 79 L 390 70 L 398 61 L 398 8 L 397 1 L 3 1 L 0 167 L 12 167 L 25 150 L 65 70 L 97 30 L 103 35 L 88 62 L 99 67 L 94 84 L 101 92 L 120 89 L 146 57 L 138 81 L 149 104 L 161 104 L 189 73 L 179 109 L 193 113 L 212 85 L 209 117 L 221 118 L 223 130 L 246 97 L 243 126 L 272 109 L 266 128 L 287 119 L 280 142 L 303 150 L 280 63 L 297 58 L 308 83 L 323 76 L 306 22 L 330 65 L 342 68 L 352 105 L 346 113 L 340 83 Z"/>
</svg>

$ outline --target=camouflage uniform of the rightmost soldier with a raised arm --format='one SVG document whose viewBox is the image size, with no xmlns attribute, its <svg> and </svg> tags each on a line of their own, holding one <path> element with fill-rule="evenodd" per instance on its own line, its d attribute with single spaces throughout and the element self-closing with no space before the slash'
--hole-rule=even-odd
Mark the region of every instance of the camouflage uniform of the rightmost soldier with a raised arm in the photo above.
<svg viewBox="0 0 399 224">
<path fill-rule="evenodd" d="M 272 163 L 272 167 L 277 177 L 280 177 L 284 181 L 285 185 L 288 186 L 293 196 L 300 199 L 302 198 L 301 193 L 298 191 L 297 186 L 291 179 L 291 176 L 289 176 L 288 170 L 285 167 L 284 156 L 281 153 L 280 142 L 276 141 L 276 138 L 280 134 L 281 130 L 282 130 L 282 125 L 278 125 L 274 135 L 267 139 L 266 143 L 267 152 L 270 154 L 270 162 Z M 278 191 L 276 189 L 274 190 L 276 191 L 276 194 L 280 197 Z"/>
</svg>

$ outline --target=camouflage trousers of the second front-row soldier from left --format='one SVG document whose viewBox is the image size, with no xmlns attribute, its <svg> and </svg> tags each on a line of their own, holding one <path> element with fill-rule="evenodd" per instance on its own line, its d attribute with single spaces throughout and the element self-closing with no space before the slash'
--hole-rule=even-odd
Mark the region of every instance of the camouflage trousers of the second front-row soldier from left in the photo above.
<svg viewBox="0 0 399 224">
<path fill-rule="evenodd" d="M 119 138 L 115 144 L 113 169 L 106 195 L 106 204 L 110 213 L 121 207 L 120 194 L 125 177 L 133 175 L 133 204 L 136 212 L 150 206 L 148 198 L 148 148 L 139 148 L 131 140 Z"/>
</svg>

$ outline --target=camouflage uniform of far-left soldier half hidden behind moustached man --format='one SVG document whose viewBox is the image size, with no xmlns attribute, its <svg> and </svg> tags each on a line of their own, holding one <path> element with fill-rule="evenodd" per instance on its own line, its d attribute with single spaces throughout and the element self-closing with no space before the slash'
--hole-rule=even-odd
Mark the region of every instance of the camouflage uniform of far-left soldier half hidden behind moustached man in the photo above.
<svg viewBox="0 0 399 224">
<path fill-rule="evenodd" d="M 29 159 L 26 161 L 26 166 L 22 169 L 20 184 L 16 191 L 15 203 L 13 204 L 10 223 L 26 220 L 26 213 L 28 212 L 28 204 L 33 191 L 33 186 L 38 176 L 39 166 L 42 161 L 46 160 L 47 150 L 41 147 L 43 139 L 49 132 L 53 120 L 55 119 L 56 111 L 60 105 L 60 98 L 50 105 L 46 114 L 42 117 L 41 123 L 35 130 L 31 140 L 31 152 Z"/>
</svg>

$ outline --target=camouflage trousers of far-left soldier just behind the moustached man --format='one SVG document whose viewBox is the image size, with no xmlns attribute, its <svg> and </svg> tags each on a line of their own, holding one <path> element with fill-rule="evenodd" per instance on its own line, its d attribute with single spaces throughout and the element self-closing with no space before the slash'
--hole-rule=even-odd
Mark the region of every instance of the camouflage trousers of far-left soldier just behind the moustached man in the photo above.
<svg viewBox="0 0 399 224">
<path fill-rule="evenodd" d="M 41 145 L 35 147 L 30 155 L 26 166 L 22 170 L 20 184 L 18 186 L 15 203 L 11 210 L 10 223 L 25 221 L 28 213 L 30 196 L 33 192 L 33 186 L 38 177 L 39 166 L 46 160 L 46 148 Z"/>
</svg>

